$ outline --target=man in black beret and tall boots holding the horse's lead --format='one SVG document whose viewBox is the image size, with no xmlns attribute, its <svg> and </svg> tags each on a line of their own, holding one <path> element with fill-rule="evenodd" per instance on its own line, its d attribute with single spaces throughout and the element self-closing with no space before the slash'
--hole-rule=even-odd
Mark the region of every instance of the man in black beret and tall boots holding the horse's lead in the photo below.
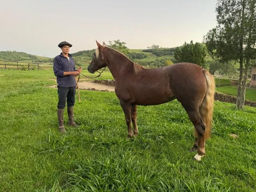
<svg viewBox="0 0 256 192">
<path fill-rule="evenodd" d="M 78 127 L 74 122 L 74 104 L 75 104 L 75 95 L 76 95 L 76 76 L 78 76 L 82 69 L 79 68 L 76 70 L 74 60 L 72 55 L 69 54 L 69 48 L 72 47 L 72 44 L 63 41 L 58 44 L 58 47 L 61 48 L 62 53 L 56 56 L 53 60 L 53 70 L 54 75 L 57 77 L 58 83 L 58 124 L 59 131 L 65 133 L 66 129 L 64 128 L 64 108 L 68 106 L 68 125 Z"/>
</svg>

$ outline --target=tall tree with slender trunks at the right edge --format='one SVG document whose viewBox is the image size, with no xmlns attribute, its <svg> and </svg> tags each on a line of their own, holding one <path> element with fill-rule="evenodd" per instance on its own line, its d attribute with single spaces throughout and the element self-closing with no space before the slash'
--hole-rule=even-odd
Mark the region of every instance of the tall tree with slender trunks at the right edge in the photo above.
<svg viewBox="0 0 256 192">
<path fill-rule="evenodd" d="M 204 41 L 212 58 L 239 61 L 237 108 L 244 108 L 250 61 L 256 58 L 256 0 L 218 0 L 218 26 Z M 243 65 L 245 64 L 245 68 Z"/>
</svg>

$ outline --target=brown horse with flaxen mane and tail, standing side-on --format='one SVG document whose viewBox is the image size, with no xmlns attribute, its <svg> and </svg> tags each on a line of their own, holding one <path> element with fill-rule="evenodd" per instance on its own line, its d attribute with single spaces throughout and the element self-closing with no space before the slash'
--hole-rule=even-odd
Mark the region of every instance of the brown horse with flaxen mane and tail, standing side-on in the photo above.
<svg viewBox="0 0 256 192">
<path fill-rule="evenodd" d="M 128 138 L 138 135 L 137 105 L 158 105 L 177 99 L 194 125 L 194 160 L 205 156 L 205 140 L 210 137 L 214 106 L 214 77 L 192 63 L 177 63 L 146 69 L 124 54 L 97 42 L 88 71 L 108 66 L 116 81 L 115 92 L 124 111 Z M 131 127 L 133 124 L 133 130 Z"/>
</svg>

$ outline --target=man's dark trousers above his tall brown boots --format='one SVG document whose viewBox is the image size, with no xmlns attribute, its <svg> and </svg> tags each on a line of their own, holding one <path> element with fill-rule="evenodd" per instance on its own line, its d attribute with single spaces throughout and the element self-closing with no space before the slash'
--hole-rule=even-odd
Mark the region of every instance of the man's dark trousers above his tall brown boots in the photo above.
<svg viewBox="0 0 256 192">
<path fill-rule="evenodd" d="M 76 87 L 58 87 L 58 109 L 64 109 L 66 106 L 72 107 L 75 104 Z"/>
</svg>

